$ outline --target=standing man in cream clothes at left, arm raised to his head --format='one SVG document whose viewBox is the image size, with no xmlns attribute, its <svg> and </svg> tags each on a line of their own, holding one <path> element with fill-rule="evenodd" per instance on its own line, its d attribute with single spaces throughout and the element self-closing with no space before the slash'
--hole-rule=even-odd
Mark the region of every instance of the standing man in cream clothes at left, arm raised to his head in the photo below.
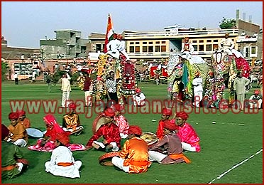
<svg viewBox="0 0 264 185">
<path fill-rule="evenodd" d="M 70 100 L 70 91 L 72 88 L 70 87 L 70 75 L 68 73 L 62 75 L 62 107 L 68 107 Z"/>
</svg>

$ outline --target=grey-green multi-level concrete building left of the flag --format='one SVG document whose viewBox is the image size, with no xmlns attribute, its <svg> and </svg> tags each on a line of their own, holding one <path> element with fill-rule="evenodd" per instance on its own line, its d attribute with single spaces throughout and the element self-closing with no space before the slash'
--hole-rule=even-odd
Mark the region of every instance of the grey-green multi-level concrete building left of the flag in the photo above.
<svg viewBox="0 0 264 185">
<path fill-rule="evenodd" d="M 43 59 L 86 58 L 87 38 L 81 38 L 81 31 L 57 30 L 56 38 L 41 39 L 40 52 Z"/>
</svg>

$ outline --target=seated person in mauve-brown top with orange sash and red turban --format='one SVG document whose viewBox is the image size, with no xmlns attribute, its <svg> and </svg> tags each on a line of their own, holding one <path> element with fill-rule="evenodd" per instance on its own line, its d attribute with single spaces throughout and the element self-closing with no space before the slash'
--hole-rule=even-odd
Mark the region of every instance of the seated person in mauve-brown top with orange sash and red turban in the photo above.
<svg viewBox="0 0 264 185">
<path fill-rule="evenodd" d="M 182 154 L 182 143 L 175 134 L 177 126 L 172 122 L 163 125 L 163 139 L 153 144 L 148 151 L 150 162 L 157 161 L 160 164 L 190 163 L 189 159 Z"/>
</svg>

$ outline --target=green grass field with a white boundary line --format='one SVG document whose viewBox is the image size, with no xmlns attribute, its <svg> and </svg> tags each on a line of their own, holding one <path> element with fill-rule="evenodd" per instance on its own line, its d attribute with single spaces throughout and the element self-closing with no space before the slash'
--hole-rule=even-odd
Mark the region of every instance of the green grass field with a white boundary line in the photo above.
<svg viewBox="0 0 264 185">
<path fill-rule="evenodd" d="M 147 99 L 165 100 L 166 85 L 153 83 L 139 84 Z M 13 82 L 2 83 L 1 91 L 1 122 L 9 125 L 8 115 L 11 112 L 10 100 L 57 100 L 61 102 L 60 85 L 53 87 L 48 93 L 44 83 Z M 253 90 L 251 90 L 252 93 Z M 74 85 L 70 94 L 72 100 L 83 100 L 84 93 Z M 28 112 L 26 110 L 26 112 Z M 201 139 L 201 152 L 185 152 L 192 161 L 191 164 L 161 165 L 153 163 L 143 174 L 126 174 L 114 166 L 101 166 L 98 158 L 104 152 L 94 149 L 73 152 L 75 160 L 82 160 L 81 177 L 67 179 L 53 176 L 45 172 L 44 164 L 50 159 L 48 152 L 35 152 L 21 148 L 30 162 L 29 169 L 21 176 L 11 180 L 3 180 L 3 184 L 262 184 L 263 183 L 263 110 L 258 114 L 199 114 L 189 115 L 189 124 L 196 129 Z M 27 114 L 31 127 L 45 130 L 43 108 L 38 114 Z M 57 121 L 62 122 L 62 115 L 56 113 Z M 91 118 L 80 114 L 84 132 L 79 136 L 70 136 L 72 143 L 86 144 L 92 136 Z M 140 125 L 143 132 L 154 132 L 158 127 L 160 114 L 125 114 L 130 125 Z M 156 120 L 156 121 L 153 121 Z M 216 121 L 216 124 L 212 124 Z M 35 144 L 37 139 L 29 139 Z M 122 143 L 124 140 L 122 141 Z M 258 152 L 258 153 L 257 153 Z"/>
</svg>

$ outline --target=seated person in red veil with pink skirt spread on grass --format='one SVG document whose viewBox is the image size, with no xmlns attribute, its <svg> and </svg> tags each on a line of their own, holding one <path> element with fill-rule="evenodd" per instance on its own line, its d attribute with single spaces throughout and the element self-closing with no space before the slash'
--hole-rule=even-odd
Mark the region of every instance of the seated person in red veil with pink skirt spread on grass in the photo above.
<svg viewBox="0 0 264 185">
<path fill-rule="evenodd" d="M 43 138 L 38 139 L 37 144 L 29 146 L 28 149 L 36 150 L 40 152 L 52 152 L 55 149 L 55 140 L 57 135 L 64 135 L 64 137 L 70 138 L 70 132 L 65 132 L 62 127 L 57 123 L 53 115 L 45 115 L 43 117 L 47 131 Z M 65 144 L 71 151 L 84 150 L 85 147 L 82 144 L 70 144 L 70 139 L 67 144 Z"/>
</svg>

